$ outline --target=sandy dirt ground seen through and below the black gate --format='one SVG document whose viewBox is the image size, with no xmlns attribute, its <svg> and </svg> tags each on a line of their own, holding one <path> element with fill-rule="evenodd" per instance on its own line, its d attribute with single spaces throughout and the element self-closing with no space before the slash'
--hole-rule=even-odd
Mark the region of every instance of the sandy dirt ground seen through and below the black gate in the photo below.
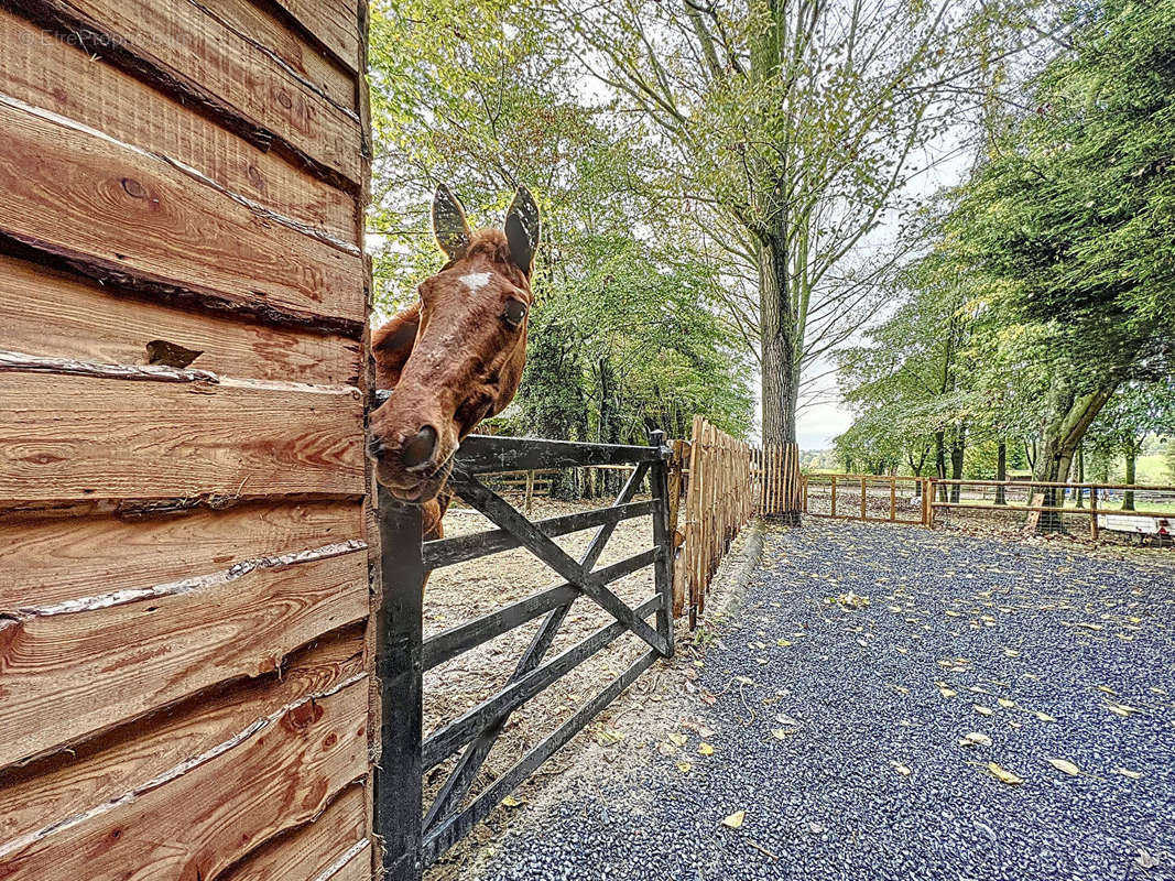
<svg viewBox="0 0 1175 881">
<path fill-rule="evenodd" d="M 506 496 L 518 505 L 519 498 Z M 643 500 L 647 497 L 637 497 Z M 571 513 L 599 507 L 606 503 L 560 503 L 536 499 L 531 519 Z M 492 524 L 481 513 L 471 510 L 454 510 L 445 517 L 445 534 L 458 536 L 492 529 Z M 556 543 L 572 556 L 588 546 L 595 529 L 559 537 Z M 741 542 L 736 542 L 736 550 Z M 649 517 L 624 520 L 609 540 L 597 566 L 606 566 L 652 547 L 652 523 Z M 733 554 L 737 557 L 737 553 Z M 560 578 L 522 549 L 504 551 L 491 557 L 449 566 L 432 573 L 424 597 L 424 635 L 452 627 L 476 618 L 504 604 L 523 599 L 543 587 L 560 583 Z M 721 610 L 726 601 L 724 584 L 716 578 L 714 590 L 707 599 L 711 610 Z M 647 567 L 611 585 L 612 590 L 630 606 L 647 599 L 653 593 L 653 573 Z M 716 616 L 717 617 L 717 616 Z M 546 657 L 585 639 L 599 627 L 611 623 L 611 617 L 589 599 L 580 599 L 572 607 L 560 628 L 555 645 Z M 477 650 L 466 652 L 452 661 L 441 665 L 424 677 L 424 731 L 425 734 L 456 719 L 462 713 L 499 691 L 509 679 L 522 652 L 530 644 L 540 620 L 519 627 Z M 664 713 L 672 718 L 666 725 L 676 725 L 677 698 L 692 687 L 697 678 L 693 665 L 704 652 L 706 627 L 690 634 L 678 621 L 678 655 L 672 663 L 658 663 L 644 673 L 624 694 L 589 724 L 570 744 L 555 754 L 522 787 L 505 806 L 495 811 L 478 825 L 462 842 L 445 854 L 427 873 L 428 881 L 456 881 L 469 876 L 472 866 L 491 854 L 492 842 L 511 820 L 512 812 L 526 805 L 570 764 L 584 761 L 607 761 L 615 753 L 591 749 L 597 740 L 610 742 L 616 737 L 627 737 L 633 720 L 643 728 Z M 697 639 L 697 645 L 694 640 Z M 645 652 L 645 644 L 631 634 L 616 640 L 607 650 L 589 659 L 542 694 L 517 709 L 505 726 L 494 752 L 482 767 L 474 786 L 476 794 L 508 771 L 529 748 L 564 722 L 579 706 L 588 702 L 602 687 L 623 673 Z M 443 784 L 445 774 L 455 760 L 444 762 L 425 775 L 425 805 Z"/>
</svg>

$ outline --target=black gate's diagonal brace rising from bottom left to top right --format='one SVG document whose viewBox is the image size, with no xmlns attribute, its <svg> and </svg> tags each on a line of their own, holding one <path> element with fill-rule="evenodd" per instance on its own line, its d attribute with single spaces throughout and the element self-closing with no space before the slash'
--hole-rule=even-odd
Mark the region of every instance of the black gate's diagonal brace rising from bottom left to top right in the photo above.
<svg viewBox="0 0 1175 881">
<path fill-rule="evenodd" d="M 616 502 L 612 504 L 613 507 L 627 504 L 632 500 L 632 497 L 637 495 L 637 490 L 640 487 L 640 483 L 644 480 L 647 471 L 647 463 L 643 462 L 637 465 L 637 469 L 629 476 L 629 480 L 624 484 L 620 493 L 616 497 Z M 503 504 L 505 504 L 504 500 Z M 618 525 L 619 522 L 613 520 L 612 523 L 604 524 L 596 531 L 591 544 L 588 545 L 588 550 L 584 551 L 584 556 L 579 560 L 579 566 L 583 570 L 591 571 L 591 569 L 596 565 L 596 561 L 604 552 L 604 547 L 607 545 L 607 540 L 612 537 L 612 532 Z M 523 652 L 522 658 L 518 660 L 518 666 L 508 680 L 508 685 L 522 679 L 538 666 L 548 650 L 550 650 L 559 627 L 563 626 L 563 621 L 570 611 L 571 603 L 551 610 L 551 612 L 543 620 L 543 624 L 535 634 L 535 638 L 531 640 L 530 646 L 528 646 L 526 651 Z M 456 806 L 461 803 L 461 800 L 465 798 L 465 794 L 474 785 L 477 772 L 481 771 L 482 765 L 485 764 L 485 759 L 489 756 L 490 751 L 497 742 L 497 739 L 502 734 L 502 729 L 505 727 L 509 718 L 510 715 L 506 714 L 494 725 L 489 726 L 485 731 L 477 735 L 477 739 L 474 740 L 474 742 L 465 747 L 464 752 L 462 752 L 461 758 L 457 760 L 457 766 L 449 773 L 444 785 L 441 787 L 436 799 L 432 801 L 431 807 L 429 807 L 428 813 L 424 815 L 423 826 L 425 834 L 435 828 L 441 820 L 451 814 Z"/>
</svg>

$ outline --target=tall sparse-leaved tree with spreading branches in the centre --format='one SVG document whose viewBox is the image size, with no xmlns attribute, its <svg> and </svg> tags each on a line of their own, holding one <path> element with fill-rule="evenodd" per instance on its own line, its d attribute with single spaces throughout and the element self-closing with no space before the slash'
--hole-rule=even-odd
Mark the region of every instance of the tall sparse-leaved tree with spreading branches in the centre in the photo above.
<svg viewBox="0 0 1175 881">
<path fill-rule="evenodd" d="M 763 437 L 794 443 L 801 377 L 872 314 L 924 148 L 1010 51 L 1001 4 L 555 4 L 585 68 L 640 114 L 665 197 L 734 262 Z M 795 512 L 793 512 L 795 513 Z"/>
</svg>

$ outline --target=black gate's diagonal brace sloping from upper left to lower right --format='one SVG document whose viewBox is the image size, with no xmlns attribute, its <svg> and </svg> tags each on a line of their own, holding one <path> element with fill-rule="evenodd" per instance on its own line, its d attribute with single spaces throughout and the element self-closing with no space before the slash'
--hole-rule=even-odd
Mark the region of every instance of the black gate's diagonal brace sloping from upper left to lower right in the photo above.
<svg viewBox="0 0 1175 881">
<path fill-rule="evenodd" d="M 510 530 L 531 553 L 553 569 L 569 584 L 578 587 L 591 597 L 605 612 L 616 618 L 640 639 L 657 650 L 663 657 L 669 655 L 669 641 L 652 626 L 637 617 L 636 612 L 612 591 L 610 591 L 591 572 L 568 556 L 566 551 L 539 532 L 535 525 L 518 513 L 505 499 L 490 490 L 471 475 L 454 469 L 450 485 L 457 490 L 465 502 L 494 520 L 498 526 Z"/>
</svg>

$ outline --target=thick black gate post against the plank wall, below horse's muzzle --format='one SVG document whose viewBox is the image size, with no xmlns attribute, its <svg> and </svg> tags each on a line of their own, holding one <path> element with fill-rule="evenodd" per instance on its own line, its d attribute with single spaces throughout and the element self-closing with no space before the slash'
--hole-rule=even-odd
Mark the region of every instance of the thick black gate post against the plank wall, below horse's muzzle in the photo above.
<svg viewBox="0 0 1175 881">
<path fill-rule="evenodd" d="M 385 881 L 418 881 L 424 561 L 421 509 L 378 487 L 380 585 L 375 672 L 380 691 L 380 760 L 375 833 Z"/>
</svg>

